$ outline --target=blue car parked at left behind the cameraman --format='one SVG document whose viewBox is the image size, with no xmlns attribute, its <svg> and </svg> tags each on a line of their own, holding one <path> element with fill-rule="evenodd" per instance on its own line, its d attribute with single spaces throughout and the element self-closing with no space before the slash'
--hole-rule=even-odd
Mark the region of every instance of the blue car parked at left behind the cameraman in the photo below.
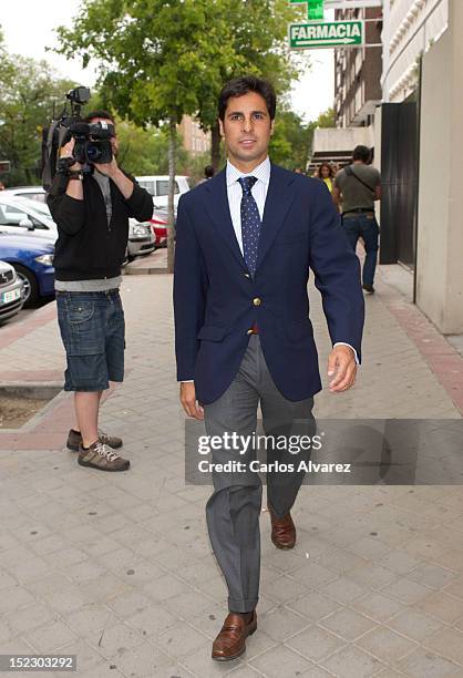
<svg viewBox="0 0 463 678">
<path fill-rule="evenodd" d="M 1 229 L 0 229 L 1 230 Z M 11 264 L 24 282 L 24 306 L 54 295 L 54 237 L 0 232 L 0 259 Z"/>
</svg>

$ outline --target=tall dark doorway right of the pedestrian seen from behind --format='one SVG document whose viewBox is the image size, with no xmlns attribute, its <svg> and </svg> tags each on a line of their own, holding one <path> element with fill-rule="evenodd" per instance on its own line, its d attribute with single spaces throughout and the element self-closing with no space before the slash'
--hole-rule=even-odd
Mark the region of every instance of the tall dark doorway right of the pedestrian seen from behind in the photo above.
<svg viewBox="0 0 463 678">
<path fill-rule="evenodd" d="M 409 268 L 416 251 L 418 113 L 415 95 L 382 105 L 380 263 Z"/>
</svg>

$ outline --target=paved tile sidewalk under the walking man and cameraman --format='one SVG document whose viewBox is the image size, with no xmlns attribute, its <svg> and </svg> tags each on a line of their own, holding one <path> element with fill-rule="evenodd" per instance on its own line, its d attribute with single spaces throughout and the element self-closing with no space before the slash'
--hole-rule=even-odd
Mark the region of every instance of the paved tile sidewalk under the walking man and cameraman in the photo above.
<svg viewBox="0 0 463 678">
<path fill-rule="evenodd" d="M 463 359 L 390 275 L 366 299 L 358 386 L 322 392 L 316 413 L 459 419 Z M 226 590 L 205 527 L 210 489 L 184 483 L 172 277 L 125 277 L 123 296 L 127 378 L 102 425 L 124 436 L 132 470 L 84 470 L 62 450 L 71 397 L 25 433 L 0 432 L 1 653 L 76 653 L 82 678 L 463 676 L 459 486 L 303 486 L 290 553 L 274 548 L 264 513 L 258 633 L 239 660 L 210 661 Z M 0 382 L 62 379 L 54 312 L 0 330 Z"/>
</svg>

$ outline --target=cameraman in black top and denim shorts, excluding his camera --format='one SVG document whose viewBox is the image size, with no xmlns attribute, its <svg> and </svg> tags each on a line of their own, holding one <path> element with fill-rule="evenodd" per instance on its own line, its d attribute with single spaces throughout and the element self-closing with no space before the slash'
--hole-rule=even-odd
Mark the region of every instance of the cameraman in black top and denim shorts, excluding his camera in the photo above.
<svg viewBox="0 0 463 678">
<path fill-rule="evenodd" d="M 86 123 L 114 121 L 106 111 L 93 111 Z M 66 351 L 65 391 L 74 391 L 76 425 L 68 449 L 79 452 L 82 466 L 126 471 L 128 460 L 113 450 L 122 440 L 99 431 L 100 399 L 110 381 L 124 378 L 124 311 L 119 287 L 128 238 L 128 217 L 153 216 L 150 194 L 117 165 L 117 136 L 111 138 L 113 157 L 83 173 L 72 163 L 74 140 L 60 152 L 58 174 L 47 198 L 58 224 L 54 255 L 58 320 Z"/>
</svg>

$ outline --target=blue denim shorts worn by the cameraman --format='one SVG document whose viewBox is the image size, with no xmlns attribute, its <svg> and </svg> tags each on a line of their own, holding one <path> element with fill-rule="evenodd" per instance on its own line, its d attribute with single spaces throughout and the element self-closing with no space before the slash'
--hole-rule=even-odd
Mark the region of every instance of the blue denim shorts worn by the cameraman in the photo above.
<svg viewBox="0 0 463 678">
<path fill-rule="evenodd" d="M 56 292 L 68 358 L 65 391 L 104 391 L 124 379 L 125 323 L 119 289 Z"/>
</svg>

